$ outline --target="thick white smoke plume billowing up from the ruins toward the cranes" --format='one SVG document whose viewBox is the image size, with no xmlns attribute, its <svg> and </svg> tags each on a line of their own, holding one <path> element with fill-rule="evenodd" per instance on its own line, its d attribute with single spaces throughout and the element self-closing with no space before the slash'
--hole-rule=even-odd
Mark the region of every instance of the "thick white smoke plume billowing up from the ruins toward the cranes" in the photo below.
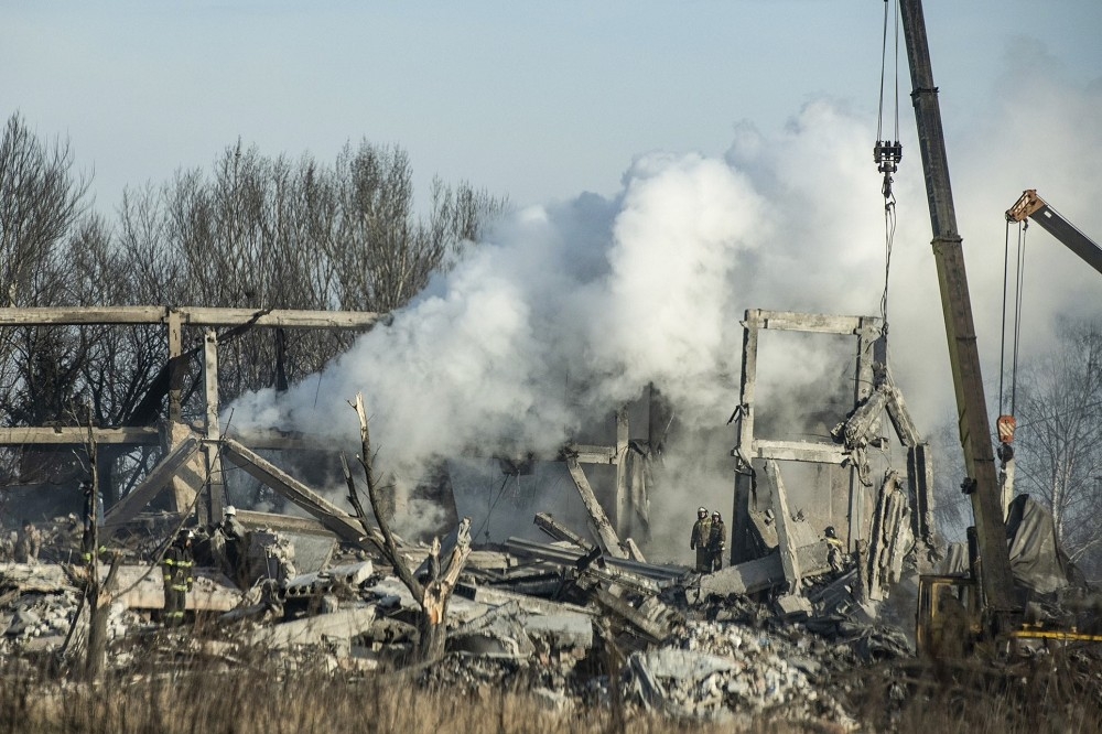
<svg viewBox="0 0 1102 734">
<path fill-rule="evenodd" d="M 1089 164 L 1102 150 L 1102 85 L 1073 88 L 1034 53 L 1025 79 L 1020 66 L 1014 72 L 1016 84 L 1035 91 L 1028 102 L 993 94 L 975 119 L 947 121 L 980 347 L 992 377 L 1003 212 L 1023 188 L 1036 187 L 1081 229 L 1102 236 L 1102 173 Z M 943 102 L 943 110 L 958 107 Z M 912 116 L 903 123 L 889 344 L 897 382 L 929 431 L 951 409 L 952 384 L 921 163 L 914 133 L 906 133 Z M 879 315 L 886 250 L 874 138 L 871 115 L 820 99 L 779 132 L 741 123 L 722 160 L 640 155 L 614 197 L 583 194 L 517 212 L 324 374 L 278 397 L 264 391 L 238 401 L 233 424 L 294 429 L 355 451 L 357 422 L 346 401 L 363 392 L 381 468 L 415 475 L 441 457 L 553 453 L 653 382 L 682 425 L 709 436 L 704 446 L 674 442 L 665 486 L 651 498 L 659 553 L 684 561 L 695 506 L 731 507 L 734 432 L 725 423 L 738 402 L 744 310 Z M 1102 277 L 1070 253 L 1035 267 L 1047 272 L 1027 281 L 1034 300 L 1026 333 L 1044 335 L 1057 314 L 1102 304 Z M 770 409 L 806 410 L 785 399 L 782 386 L 817 376 L 833 385 L 838 354 L 836 344 L 812 341 L 764 350 L 763 380 L 781 386 Z M 799 395 L 806 402 L 808 391 Z M 540 501 L 525 504 L 515 520 L 499 515 L 489 522 L 477 515 L 504 511 L 494 506 L 494 493 L 504 494 L 496 476 L 474 482 L 480 494 L 460 509 L 497 537 L 517 535 L 514 522 L 530 527 L 532 507 L 544 509 L 540 501 L 570 504 L 569 479 L 549 474 Z M 562 511 L 583 517 L 576 507 Z"/>
</svg>

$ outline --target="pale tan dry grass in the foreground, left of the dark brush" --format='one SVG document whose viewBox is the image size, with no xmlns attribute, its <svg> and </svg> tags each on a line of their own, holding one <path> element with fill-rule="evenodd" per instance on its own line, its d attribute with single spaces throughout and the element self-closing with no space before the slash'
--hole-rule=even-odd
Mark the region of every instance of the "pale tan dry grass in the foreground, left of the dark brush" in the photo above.
<svg viewBox="0 0 1102 734">
<path fill-rule="evenodd" d="M 417 673 L 349 676 L 321 665 L 258 657 L 226 667 L 205 662 L 108 678 L 96 684 L 11 666 L 0 680 L 0 733 L 61 734 L 597 734 L 807 730 L 761 722 L 733 728 L 671 721 L 623 708 L 557 711 L 521 690 L 425 688 Z"/>
</svg>

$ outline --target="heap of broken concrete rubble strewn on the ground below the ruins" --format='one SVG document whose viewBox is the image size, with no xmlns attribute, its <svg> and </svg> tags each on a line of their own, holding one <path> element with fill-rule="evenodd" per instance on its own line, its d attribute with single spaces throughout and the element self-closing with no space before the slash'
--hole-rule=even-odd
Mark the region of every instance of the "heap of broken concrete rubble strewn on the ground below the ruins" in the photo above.
<svg viewBox="0 0 1102 734">
<path fill-rule="evenodd" d="M 151 639 L 175 636 L 179 644 L 185 635 L 196 639 L 193 658 L 202 652 L 223 665 L 246 659 L 250 648 L 285 656 L 288 666 L 320 660 L 346 676 L 410 659 L 419 605 L 386 559 L 345 544 L 326 554 L 325 568 L 289 575 L 293 543 L 271 530 L 257 536 L 248 563 L 270 568 L 268 576 L 241 589 L 228 569 L 196 569 L 187 600 L 196 624 L 179 632 L 160 625 L 162 580 L 149 549 L 163 543 L 126 549 L 109 597 L 108 667 L 126 672 L 154 658 L 174 665 L 172 654 L 150 649 Z M 268 555 L 257 557 L 264 548 Z M 48 558 L 73 555 L 64 550 L 51 548 Z M 414 569 L 426 552 L 401 549 Z M 88 571 L 45 561 L 0 563 L 0 655 L 78 655 Z M 107 573 L 100 559 L 99 578 Z M 677 720 L 769 715 L 855 725 L 832 680 L 876 659 L 869 652 L 875 646 L 861 640 L 883 634 L 836 615 L 793 622 L 770 604 L 773 594 L 702 596 L 700 587 L 701 576 L 688 569 L 612 558 L 569 541 L 510 539 L 503 548 L 478 549 L 447 606 L 446 655 L 418 679 L 468 691 L 520 690 L 562 711 L 607 704 L 615 688 L 627 705 Z M 909 655 L 901 634 L 887 638 L 895 646 L 884 646 L 879 657 Z M 620 662 L 611 668 L 613 658 Z"/>
</svg>

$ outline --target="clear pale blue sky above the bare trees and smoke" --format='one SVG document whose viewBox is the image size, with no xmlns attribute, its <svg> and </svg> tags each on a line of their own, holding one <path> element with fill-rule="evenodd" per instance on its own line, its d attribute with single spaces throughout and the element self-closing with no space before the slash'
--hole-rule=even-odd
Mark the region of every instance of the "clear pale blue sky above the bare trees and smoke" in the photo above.
<svg viewBox="0 0 1102 734">
<path fill-rule="evenodd" d="M 612 193 L 647 151 L 722 154 L 737 121 L 774 130 L 819 96 L 875 119 L 883 9 L 0 0 L 0 115 L 67 137 L 108 212 L 125 185 L 208 168 L 238 137 L 326 161 L 348 140 L 399 143 L 421 191 L 439 174 L 541 203 Z M 1098 0 L 928 0 L 926 14 L 950 132 L 1016 36 L 1080 80 L 1102 72 Z"/>
</svg>

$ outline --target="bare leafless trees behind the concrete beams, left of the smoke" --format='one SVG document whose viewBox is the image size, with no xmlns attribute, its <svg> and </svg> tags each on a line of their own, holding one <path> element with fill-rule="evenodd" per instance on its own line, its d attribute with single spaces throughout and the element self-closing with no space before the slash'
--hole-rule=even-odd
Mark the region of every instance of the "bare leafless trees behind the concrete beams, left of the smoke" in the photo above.
<svg viewBox="0 0 1102 734">
<path fill-rule="evenodd" d="M 159 186 L 128 190 L 110 219 L 91 211 L 89 186 L 67 142 L 40 140 L 18 112 L 8 119 L 0 305 L 389 312 L 507 206 L 467 183 L 435 180 L 419 213 L 406 151 L 367 141 L 345 145 L 332 163 L 272 158 L 238 141 L 209 171 L 181 170 Z M 279 330 L 236 336 L 219 350 L 223 400 L 294 382 L 352 338 Z M 0 328 L 0 424 L 151 422 L 138 413 L 166 354 L 163 326 Z M 192 387 L 185 413 L 198 415 L 201 390 Z M 65 471 L 56 457 L 8 452 L 0 482 L 63 481 Z"/>
</svg>

